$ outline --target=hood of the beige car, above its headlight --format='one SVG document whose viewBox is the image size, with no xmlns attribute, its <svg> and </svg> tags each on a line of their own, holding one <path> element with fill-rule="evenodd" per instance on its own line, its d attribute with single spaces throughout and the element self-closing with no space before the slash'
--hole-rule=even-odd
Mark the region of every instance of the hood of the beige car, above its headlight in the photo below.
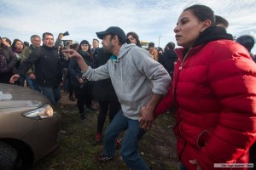
<svg viewBox="0 0 256 170">
<path fill-rule="evenodd" d="M 39 107 L 49 103 L 43 94 L 30 88 L 0 83 L 0 109 Z"/>
</svg>

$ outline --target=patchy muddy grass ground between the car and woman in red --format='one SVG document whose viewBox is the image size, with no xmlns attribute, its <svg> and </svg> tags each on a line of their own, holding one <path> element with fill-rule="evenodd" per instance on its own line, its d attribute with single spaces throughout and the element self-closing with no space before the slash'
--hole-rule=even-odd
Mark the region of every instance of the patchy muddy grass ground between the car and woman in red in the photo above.
<svg viewBox="0 0 256 170">
<path fill-rule="evenodd" d="M 62 118 L 62 138 L 60 146 L 43 160 L 38 161 L 34 170 L 128 170 L 116 150 L 113 161 L 98 163 L 96 156 L 102 152 L 102 144 L 95 144 L 96 113 L 86 112 L 86 121 L 81 121 L 76 105 L 58 105 Z M 150 169 L 177 169 L 176 139 L 172 128 L 172 114 L 156 119 L 152 127 L 140 141 L 139 153 Z M 108 118 L 105 127 L 108 126 Z"/>
</svg>

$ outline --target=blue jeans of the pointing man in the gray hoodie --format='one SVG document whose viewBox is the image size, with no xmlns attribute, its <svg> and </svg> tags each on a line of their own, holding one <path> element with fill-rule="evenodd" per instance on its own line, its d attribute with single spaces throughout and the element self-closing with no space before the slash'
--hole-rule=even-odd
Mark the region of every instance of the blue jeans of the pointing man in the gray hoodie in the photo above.
<svg viewBox="0 0 256 170">
<path fill-rule="evenodd" d="M 122 110 L 113 117 L 113 121 L 109 124 L 105 132 L 103 154 L 105 156 L 114 156 L 115 139 L 124 130 L 126 131 L 120 150 L 123 160 L 131 170 L 148 170 L 149 168 L 144 163 L 143 158 L 137 153 L 139 139 L 146 132 L 143 131 L 137 120 L 131 120 L 125 117 Z"/>
</svg>

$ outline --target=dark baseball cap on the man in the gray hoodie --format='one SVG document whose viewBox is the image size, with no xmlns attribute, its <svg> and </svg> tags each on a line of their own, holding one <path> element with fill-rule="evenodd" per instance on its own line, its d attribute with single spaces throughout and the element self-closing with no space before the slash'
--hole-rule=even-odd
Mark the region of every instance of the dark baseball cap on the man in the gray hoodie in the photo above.
<svg viewBox="0 0 256 170">
<path fill-rule="evenodd" d="M 96 32 L 97 37 L 100 39 L 103 39 L 103 37 L 108 34 L 117 35 L 123 43 L 125 43 L 127 40 L 125 32 L 118 26 L 110 26 L 106 31 Z"/>
</svg>

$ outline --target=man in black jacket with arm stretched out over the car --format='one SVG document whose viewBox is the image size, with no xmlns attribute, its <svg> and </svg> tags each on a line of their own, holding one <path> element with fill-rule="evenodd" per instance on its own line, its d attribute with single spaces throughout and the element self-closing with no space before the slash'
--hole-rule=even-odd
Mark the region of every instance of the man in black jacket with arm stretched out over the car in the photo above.
<svg viewBox="0 0 256 170">
<path fill-rule="evenodd" d="M 63 35 L 59 35 L 62 38 Z M 43 46 L 36 48 L 32 54 L 20 65 L 18 71 L 10 78 L 14 83 L 20 76 L 26 75 L 26 72 L 35 65 L 36 82 L 42 89 L 44 95 L 49 99 L 52 105 L 61 99 L 61 65 L 57 54 L 54 37 L 49 32 L 43 34 Z"/>
</svg>

